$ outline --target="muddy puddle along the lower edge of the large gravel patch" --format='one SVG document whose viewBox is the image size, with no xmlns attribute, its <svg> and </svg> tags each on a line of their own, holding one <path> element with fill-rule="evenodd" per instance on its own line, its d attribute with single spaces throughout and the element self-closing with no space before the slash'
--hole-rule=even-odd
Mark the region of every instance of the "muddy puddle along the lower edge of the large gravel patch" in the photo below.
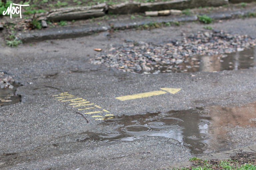
<svg viewBox="0 0 256 170">
<path fill-rule="evenodd" d="M 212 56 L 187 57 L 180 64 L 158 64 L 150 65 L 153 68 L 150 73 L 177 73 L 177 72 L 216 72 L 223 70 L 238 70 L 256 67 L 256 48 L 230 54 L 216 54 Z"/>
</svg>

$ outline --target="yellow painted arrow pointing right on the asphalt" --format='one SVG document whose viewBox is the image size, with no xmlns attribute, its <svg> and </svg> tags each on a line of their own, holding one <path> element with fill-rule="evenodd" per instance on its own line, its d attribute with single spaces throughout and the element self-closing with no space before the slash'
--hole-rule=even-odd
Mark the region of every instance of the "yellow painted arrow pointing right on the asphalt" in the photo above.
<svg viewBox="0 0 256 170">
<path fill-rule="evenodd" d="M 179 88 L 160 88 L 160 89 L 161 90 L 153 91 L 153 92 L 146 92 L 146 93 L 139 93 L 139 94 L 133 94 L 133 95 L 128 95 L 128 96 L 116 97 L 115 99 L 125 101 L 125 100 L 132 100 L 132 99 L 138 99 L 138 98 L 144 98 L 144 97 L 150 97 L 150 96 L 157 96 L 157 95 L 165 94 L 167 92 L 175 94 L 181 90 Z M 162 90 L 164 90 L 164 91 L 162 91 Z M 165 92 L 165 91 L 167 91 L 167 92 Z"/>
</svg>

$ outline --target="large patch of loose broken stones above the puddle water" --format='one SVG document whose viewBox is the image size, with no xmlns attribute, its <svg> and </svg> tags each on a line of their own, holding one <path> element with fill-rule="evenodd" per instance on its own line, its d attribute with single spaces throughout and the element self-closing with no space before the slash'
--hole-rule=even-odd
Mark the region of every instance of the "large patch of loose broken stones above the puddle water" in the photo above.
<svg viewBox="0 0 256 170">
<path fill-rule="evenodd" d="M 172 40 L 163 44 L 132 40 L 122 44 L 110 44 L 107 49 L 95 56 L 91 64 L 104 64 L 124 72 L 138 73 L 147 73 L 162 65 L 177 70 L 182 63 L 197 60 L 193 57 L 196 55 L 225 54 L 254 46 L 256 39 L 247 35 L 230 35 L 214 30 L 198 32 L 184 37 L 183 40 Z"/>
</svg>

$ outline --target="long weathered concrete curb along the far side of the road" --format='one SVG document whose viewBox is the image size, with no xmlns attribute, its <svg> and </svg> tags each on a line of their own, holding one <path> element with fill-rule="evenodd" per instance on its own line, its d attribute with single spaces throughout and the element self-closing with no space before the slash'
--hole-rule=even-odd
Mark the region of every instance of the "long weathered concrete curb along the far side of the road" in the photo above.
<svg viewBox="0 0 256 170">
<path fill-rule="evenodd" d="M 206 14 L 212 19 L 223 20 L 223 19 L 233 19 L 241 16 L 246 16 L 248 13 L 256 13 L 256 9 L 249 10 L 239 10 L 239 11 L 228 11 L 228 12 L 218 12 Z M 67 39 L 67 38 L 77 38 L 92 35 L 94 33 L 99 33 L 112 29 L 115 30 L 125 30 L 131 28 L 137 28 L 144 24 L 150 23 L 167 23 L 167 22 L 193 22 L 197 21 L 197 16 L 165 16 L 165 17 L 155 17 L 155 18 L 145 18 L 145 19 L 134 19 L 134 20 L 124 20 L 124 21 L 109 21 L 104 25 L 88 24 L 77 27 L 61 27 L 45 29 L 40 31 L 30 31 L 28 33 L 19 33 L 17 37 L 24 43 L 37 42 L 44 40 L 53 39 Z"/>
</svg>

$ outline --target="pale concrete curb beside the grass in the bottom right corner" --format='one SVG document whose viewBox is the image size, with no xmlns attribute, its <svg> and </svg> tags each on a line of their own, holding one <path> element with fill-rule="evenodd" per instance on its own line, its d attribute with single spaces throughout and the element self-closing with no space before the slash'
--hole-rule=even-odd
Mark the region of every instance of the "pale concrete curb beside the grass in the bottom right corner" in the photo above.
<svg viewBox="0 0 256 170">
<path fill-rule="evenodd" d="M 225 151 L 225 152 L 220 152 L 220 153 L 214 153 L 211 156 L 202 156 L 202 157 L 200 157 L 200 159 L 227 160 L 227 159 L 230 158 L 230 155 L 235 154 L 236 152 L 241 152 L 241 151 L 243 151 L 243 152 L 256 152 L 256 145 L 241 147 L 241 148 L 237 148 L 237 149 L 233 149 L 233 150 L 229 150 L 229 151 Z M 157 169 L 154 169 L 154 170 L 171 170 L 173 168 L 188 167 L 188 166 L 192 166 L 192 165 L 193 164 L 190 161 L 185 161 L 185 162 L 169 165 L 169 166 L 162 167 L 162 168 L 157 168 Z"/>
</svg>

